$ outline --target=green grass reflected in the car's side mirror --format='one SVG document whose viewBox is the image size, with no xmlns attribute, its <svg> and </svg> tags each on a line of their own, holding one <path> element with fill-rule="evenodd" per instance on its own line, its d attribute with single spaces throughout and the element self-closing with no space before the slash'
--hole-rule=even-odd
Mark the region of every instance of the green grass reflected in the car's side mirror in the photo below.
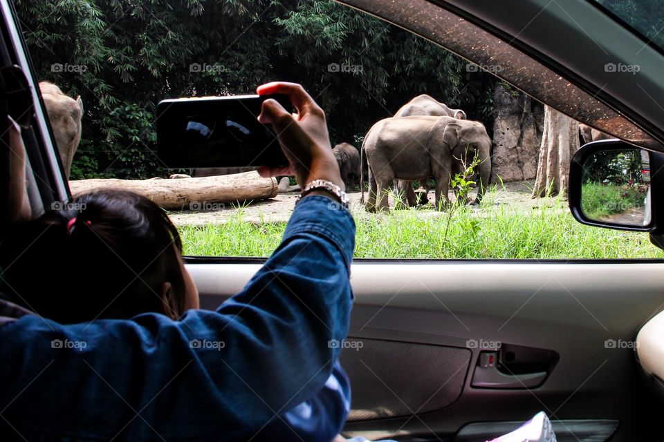
<svg viewBox="0 0 664 442">
<path fill-rule="evenodd" d="M 614 213 L 643 206 L 645 186 L 602 186 L 588 183 L 582 186 L 582 209 L 588 218 L 602 220 Z"/>
</svg>

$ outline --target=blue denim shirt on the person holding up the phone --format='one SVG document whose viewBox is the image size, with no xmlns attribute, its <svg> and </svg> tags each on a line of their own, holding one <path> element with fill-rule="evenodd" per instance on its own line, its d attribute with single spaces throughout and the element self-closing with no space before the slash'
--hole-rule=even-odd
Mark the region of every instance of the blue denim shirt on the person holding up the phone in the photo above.
<svg viewBox="0 0 664 442">
<path fill-rule="evenodd" d="M 3 418 L 28 439 L 46 430 L 106 440 L 250 439 L 275 415 L 316 400 L 333 374 L 340 346 L 329 343 L 347 334 L 354 244 L 349 212 L 312 195 L 265 265 L 216 311 L 181 321 L 142 314 L 59 325 L 25 316 L 3 325 Z M 344 418 L 334 416 L 338 425 Z"/>
</svg>

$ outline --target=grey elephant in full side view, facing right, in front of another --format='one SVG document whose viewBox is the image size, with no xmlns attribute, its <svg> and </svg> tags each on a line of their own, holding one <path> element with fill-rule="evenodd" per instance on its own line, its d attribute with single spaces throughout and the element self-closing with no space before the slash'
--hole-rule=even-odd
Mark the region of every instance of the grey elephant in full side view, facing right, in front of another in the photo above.
<svg viewBox="0 0 664 442">
<path fill-rule="evenodd" d="M 459 160 L 479 158 L 479 189 L 476 202 L 486 191 L 491 173 L 491 139 L 480 122 L 452 117 L 392 117 L 382 119 L 369 129 L 362 143 L 367 157 L 369 179 L 368 211 L 387 211 L 386 191 L 397 180 L 436 180 L 436 206 L 449 202 L 452 172 L 461 168 Z M 364 203 L 364 171 L 360 188 Z"/>
</svg>

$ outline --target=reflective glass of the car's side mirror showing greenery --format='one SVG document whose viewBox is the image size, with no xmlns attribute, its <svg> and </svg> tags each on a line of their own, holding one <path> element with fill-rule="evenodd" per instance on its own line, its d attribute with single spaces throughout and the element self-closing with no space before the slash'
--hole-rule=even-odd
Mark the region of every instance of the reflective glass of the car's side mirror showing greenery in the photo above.
<svg viewBox="0 0 664 442">
<path fill-rule="evenodd" d="M 650 223 L 650 160 L 640 148 L 593 153 L 584 164 L 581 209 L 593 221 Z"/>
</svg>

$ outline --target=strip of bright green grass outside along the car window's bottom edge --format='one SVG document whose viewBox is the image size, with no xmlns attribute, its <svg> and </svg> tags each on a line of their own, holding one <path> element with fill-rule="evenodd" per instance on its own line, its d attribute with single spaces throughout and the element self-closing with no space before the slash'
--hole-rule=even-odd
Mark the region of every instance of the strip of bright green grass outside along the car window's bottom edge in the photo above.
<svg viewBox="0 0 664 442">
<path fill-rule="evenodd" d="M 541 209 L 483 204 L 445 213 L 409 209 L 389 215 L 358 213 L 356 258 L 664 258 L 647 234 L 600 229 L 576 222 L 566 203 Z M 252 224 L 240 213 L 225 224 L 181 226 L 185 254 L 268 256 L 286 224 Z"/>
</svg>

